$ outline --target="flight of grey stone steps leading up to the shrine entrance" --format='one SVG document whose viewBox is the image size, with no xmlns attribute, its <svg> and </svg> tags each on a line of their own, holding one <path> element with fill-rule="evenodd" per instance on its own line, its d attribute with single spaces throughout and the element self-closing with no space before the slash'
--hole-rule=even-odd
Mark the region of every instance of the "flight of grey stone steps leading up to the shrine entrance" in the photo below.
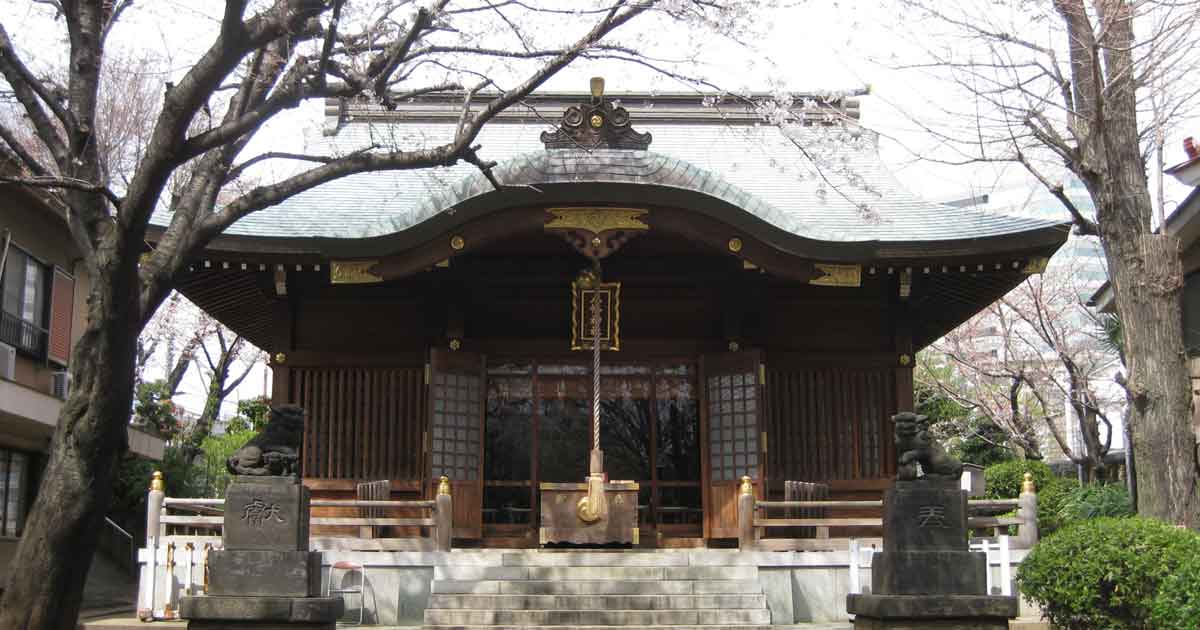
<svg viewBox="0 0 1200 630">
<path fill-rule="evenodd" d="M 439 565 L 425 628 L 769 628 L 757 566 L 690 563 L 685 553 L 526 551 Z"/>
</svg>

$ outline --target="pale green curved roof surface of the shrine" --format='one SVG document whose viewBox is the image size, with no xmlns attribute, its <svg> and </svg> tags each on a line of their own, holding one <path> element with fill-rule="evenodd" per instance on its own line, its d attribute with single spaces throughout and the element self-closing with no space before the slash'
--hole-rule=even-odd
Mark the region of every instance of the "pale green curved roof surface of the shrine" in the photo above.
<svg viewBox="0 0 1200 630">
<path fill-rule="evenodd" d="M 493 173 L 504 191 L 497 192 L 469 164 L 366 173 L 250 215 L 226 234 L 378 238 L 402 234 L 482 196 L 493 196 L 490 203 L 504 206 L 517 198 L 535 200 L 540 185 L 587 182 L 653 185 L 712 197 L 780 230 L 827 244 L 960 241 L 1061 226 L 919 199 L 883 167 L 872 136 L 865 132 L 840 126 L 780 128 L 744 113 L 731 116 L 702 106 L 698 97 L 690 115 L 643 116 L 653 108 L 653 101 L 647 102 L 650 106 L 641 113 L 630 108 L 632 125 L 653 133 L 647 151 L 546 150 L 539 136 L 558 112 L 546 112 L 545 118 L 502 116 L 484 128 L 478 142 L 480 157 L 499 162 Z M 436 116 L 406 118 L 402 107 L 390 116 L 349 116 L 307 152 L 344 155 L 372 144 L 433 145 L 449 140 L 454 128 L 454 122 Z M 736 211 L 728 206 L 721 204 L 722 211 Z"/>
</svg>

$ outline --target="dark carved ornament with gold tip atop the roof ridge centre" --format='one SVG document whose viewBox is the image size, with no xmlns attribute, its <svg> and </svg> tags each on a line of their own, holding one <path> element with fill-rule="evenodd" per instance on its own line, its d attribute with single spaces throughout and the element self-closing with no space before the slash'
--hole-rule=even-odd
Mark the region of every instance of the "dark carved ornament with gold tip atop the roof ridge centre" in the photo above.
<svg viewBox="0 0 1200 630">
<path fill-rule="evenodd" d="M 629 112 L 604 98 L 604 78 L 593 77 L 592 100 L 568 107 L 558 128 L 541 132 L 546 149 L 624 149 L 644 151 L 650 134 L 634 131 Z"/>
</svg>

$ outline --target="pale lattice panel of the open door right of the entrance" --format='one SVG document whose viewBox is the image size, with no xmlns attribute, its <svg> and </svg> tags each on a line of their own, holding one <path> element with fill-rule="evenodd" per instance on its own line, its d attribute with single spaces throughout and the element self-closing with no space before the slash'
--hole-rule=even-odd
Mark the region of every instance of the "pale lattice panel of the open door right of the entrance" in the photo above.
<svg viewBox="0 0 1200 630">
<path fill-rule="evenodd" d="M 758 474 L 758 386 L 754 372 L 708 378 L 708 437 L 714 481 Z"/>
</svg>

